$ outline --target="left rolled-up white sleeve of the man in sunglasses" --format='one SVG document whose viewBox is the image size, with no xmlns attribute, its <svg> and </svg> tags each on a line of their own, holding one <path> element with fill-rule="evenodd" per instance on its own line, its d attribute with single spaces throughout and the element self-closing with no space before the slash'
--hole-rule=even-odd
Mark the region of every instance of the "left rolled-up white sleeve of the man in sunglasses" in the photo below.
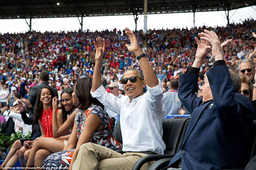
<svg viewBox="0 0 256 170">
<path fill-rule="evenodd" d="M 117 98 L 111 93 L 108 93 L 103 85 L 101 85 L 96 91 L 90 91 L 90 94 L 99 100 L 109 110 L 120 113 L 121 111 L 121 99 Z"/>
</svg>

